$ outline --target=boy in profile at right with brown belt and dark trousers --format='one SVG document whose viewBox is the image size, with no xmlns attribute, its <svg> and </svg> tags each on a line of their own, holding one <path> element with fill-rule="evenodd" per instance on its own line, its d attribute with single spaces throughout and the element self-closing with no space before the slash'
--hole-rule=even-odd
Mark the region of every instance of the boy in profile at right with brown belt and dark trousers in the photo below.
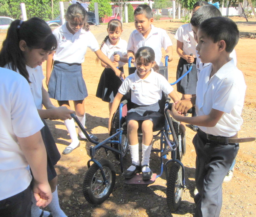
<svg viewBox="0 0 256 217">
<path fill-rule="evenodd" d="M 236 23 L 227 17 L 204 20 L 197 37 L 198 58 L 210 64 L 199 74 L 196 96 L 173 104 L 171 113 L 177 121 L 199 127 L 193 139 L 198 189 L 195 217 L 218 217 L 222 182 L 236 158 L 239 142 L 245 142 L 236 138 L 243 122 L 246 85 L 242 72 L 230 58 L 239 40 Z M 197 117 L 181 115 L 193 106 Z"/>
</svg>

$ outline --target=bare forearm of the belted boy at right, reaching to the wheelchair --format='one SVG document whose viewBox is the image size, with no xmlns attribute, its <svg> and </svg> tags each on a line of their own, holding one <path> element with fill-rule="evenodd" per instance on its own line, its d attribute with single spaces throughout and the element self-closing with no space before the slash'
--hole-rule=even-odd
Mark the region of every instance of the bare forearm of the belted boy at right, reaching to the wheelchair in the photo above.
<svg viewBox="0 0 256 217">
<path fill-rule="evenodd" d="M 172 105 L 172 111 L 170 111 L 170 113 L 172 117 L 179 122 L 185 122 L 202 127 L 214 127 L 224 114 L 222 111 L 212 109 L 208 115 L 185 117 L 180 115 L 177 110 L 175 110 L 175 104 Z"/>
</svg>

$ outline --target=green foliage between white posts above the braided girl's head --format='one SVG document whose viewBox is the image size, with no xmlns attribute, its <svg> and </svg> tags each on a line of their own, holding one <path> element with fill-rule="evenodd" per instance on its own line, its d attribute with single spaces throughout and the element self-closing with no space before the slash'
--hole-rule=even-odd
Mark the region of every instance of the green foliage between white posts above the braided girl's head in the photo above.
<svg viewBox="0 0 256 217">
<path fill-rule="evenodd" d="M 94 3 L 98 3 L 99 17 L 105 18 L 112 15 L 110 0 L 91 0 L 89 9 L 94 12 Z"/>
</svg>

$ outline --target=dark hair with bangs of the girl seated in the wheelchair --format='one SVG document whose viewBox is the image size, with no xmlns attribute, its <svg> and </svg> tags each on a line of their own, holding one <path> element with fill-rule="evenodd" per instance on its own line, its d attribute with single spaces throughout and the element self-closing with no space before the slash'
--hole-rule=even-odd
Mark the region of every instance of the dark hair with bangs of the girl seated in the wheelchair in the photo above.
<svg viewBox="0 0 256 217">
<path fill-rule="evenodd" d="M 148 46 L 140 47 L 135 54 L 135 61 L 139 60 L 142 63 L 152 63 L 154 62 L 154 59 L 155 59 L 154 50 Z M 153 69 L 155 72 L 159 70 L 157 63 L 155 63 Z"/>
</svg>

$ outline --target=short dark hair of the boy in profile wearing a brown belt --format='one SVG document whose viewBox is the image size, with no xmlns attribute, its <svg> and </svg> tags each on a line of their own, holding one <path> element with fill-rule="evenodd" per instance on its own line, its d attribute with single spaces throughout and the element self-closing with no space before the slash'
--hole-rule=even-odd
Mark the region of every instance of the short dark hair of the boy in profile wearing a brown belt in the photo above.
<svg viewBox="0 0 256 217">
<path fill-rule="evenodd" d="M 199 26 L 213 43 L 224 40 L 226 42 L 226 51 L 231 53 L 238 43 L 239 30 L 236 23 L 227 17 L 212 17 L 204 20 Z"/>
</svg>

